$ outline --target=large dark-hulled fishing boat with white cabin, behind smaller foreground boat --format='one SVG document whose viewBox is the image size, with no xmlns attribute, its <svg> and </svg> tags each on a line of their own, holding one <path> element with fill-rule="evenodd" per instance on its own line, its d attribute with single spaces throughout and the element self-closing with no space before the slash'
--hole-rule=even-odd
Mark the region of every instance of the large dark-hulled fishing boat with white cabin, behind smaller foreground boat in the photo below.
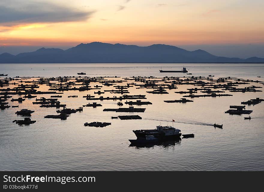
<svg viewBox="0 0 264 192">
<path fill-rule="evenodd" d="M 146 139 L 146 135 L 153 135 L 158 140 L 179 138 L 182 133 L 180 129 L 171 126 L 157 126 L 157 129 L 133 130 L 137 139 Z"/>
</svg>

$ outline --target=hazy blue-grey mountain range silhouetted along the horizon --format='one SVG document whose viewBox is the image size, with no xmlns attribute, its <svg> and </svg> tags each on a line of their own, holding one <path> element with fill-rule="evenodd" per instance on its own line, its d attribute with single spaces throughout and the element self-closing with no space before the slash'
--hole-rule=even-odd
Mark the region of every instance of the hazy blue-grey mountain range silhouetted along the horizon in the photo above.
<svg viewBox="0 0 264 192">
<path fill-rule="evenodd" d="M 0 63 L 264 63 L 264 58 L 218 57 L 203 50 L 187 51 L 171 45 L 137 45 L 92 42 L 62 50 L 41 48 L 11 55 L 0 54 Z"/>
</svg>

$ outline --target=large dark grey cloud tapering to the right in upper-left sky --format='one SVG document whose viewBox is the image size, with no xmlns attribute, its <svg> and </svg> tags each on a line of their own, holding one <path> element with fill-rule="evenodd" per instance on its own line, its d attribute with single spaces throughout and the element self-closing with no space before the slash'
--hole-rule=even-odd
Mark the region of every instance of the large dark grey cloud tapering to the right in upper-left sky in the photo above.
<svg viewBox="0 0 264 192">
<path fill-rule="evenodd" d="M 49 2 L 0 1 L 0 25 L 84 21 L 95 11 L 76 10 Z"/>
</svg>

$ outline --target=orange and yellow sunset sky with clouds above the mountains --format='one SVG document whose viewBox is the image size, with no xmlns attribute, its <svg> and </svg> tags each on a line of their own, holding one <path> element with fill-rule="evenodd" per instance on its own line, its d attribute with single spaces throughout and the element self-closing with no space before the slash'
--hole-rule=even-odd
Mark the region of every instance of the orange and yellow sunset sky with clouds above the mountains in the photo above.
<svg viewBox="0 0 264 192">
<path fill-rule="evenodd" d="M 263 0 L 1 0 L 0 53 L 100 41 L 264 57 L 263 8 Z"/>
</svg>

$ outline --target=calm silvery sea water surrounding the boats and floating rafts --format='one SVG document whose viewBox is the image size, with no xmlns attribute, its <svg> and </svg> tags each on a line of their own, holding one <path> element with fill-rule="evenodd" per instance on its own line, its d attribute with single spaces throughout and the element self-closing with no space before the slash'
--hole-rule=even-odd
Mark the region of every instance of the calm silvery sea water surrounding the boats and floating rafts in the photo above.
<svg viewBox="0 0 264 192">
<path fill-rule="evenodd" d="M 238 77 L 264 81 L 263 64 L 0 64 L 0 73 L 8 74 L 8 77 L 77 76 L 77 72 L 84 71 L 91 77 L 187 76 L 182 73 L 159 73 L 161 67 L 163 70 L 181 70 L 183 65 L 193 76 L 211 74 L 215 75 L 214 78 Z M 90 85 L 93 87 L 96 84 L 99 83 Z M 251 85 L 263 87 L 260 83 L 239 87 Z M 19 104 L 19 108 L 2 110 L 0 170 L 264 170 L 264 102 L 246 106 L 246 109 L 253 110 L 250 121 L 244 120 L 248 115 L 224 113 L 229 105 L 240 105 L 241 101 L 256 97 L 264 98 L 264 92 L 226 91 L 226 94 L 233 96 L 199 97 L 185 104 L 165 103 L 164 100 L 180 99 L 185 95 L 176 94 L 175 91 L 185 91 L 193 86 L 177 87 L 164 95 L 129 88 L 131 95 L 146 95 L 146 101 L 153 103 L 141 106 L 146 107 L 144 113 L 134 113 L 140 115 L 142 120 L 111 119 L 111 116 L 127 115 L 103 112 L 104 108 L 118 108 L 117 101 L 113 100 L 97 101 L 103 106 L 85 107 L 83 112 L 71 114 L 65 121 L 44 118 L 45 115 L 55 115 L 56 109 L 33 105 L 35 98 L 26 99 Z M 48 88 L 43 85 L 40 90 Z M 101 91 L 105 89 L 113 87 L 103 87 Z M 94 91 L 64 92 L 59 100 L 68 108 L 75 109 L 89 102 L 83 95 L 94 95 Z M 78 98 L 68 98 L 68 95 L 78 95 Z M 38 95 L 38 98 L 42 96 L 49 97 Z M 113 94 L 107 92 L 103 96 Z M 17 102 L 9 101 L 9 104 L 17 105 Z M 37 122 L 29 126 L 12 123 L 15 119 L 22 119 L 15 114 L 20 109 L 34 110 L 31 118 Z M 195 137 L 145 147 L 129 146 L 128 139 L 136 138 L 133 129 L 172 125 L 172 119 L 176 121 L 174 127 L 181 129 L 183 134 L 193 133 Z M 111 122 L 112 125 L 104 128 L 83 126 L 85 122 L 93 121 Z M 215 122 L 223 124 L 223 129 L 210 126 Z"/>
</svg>

